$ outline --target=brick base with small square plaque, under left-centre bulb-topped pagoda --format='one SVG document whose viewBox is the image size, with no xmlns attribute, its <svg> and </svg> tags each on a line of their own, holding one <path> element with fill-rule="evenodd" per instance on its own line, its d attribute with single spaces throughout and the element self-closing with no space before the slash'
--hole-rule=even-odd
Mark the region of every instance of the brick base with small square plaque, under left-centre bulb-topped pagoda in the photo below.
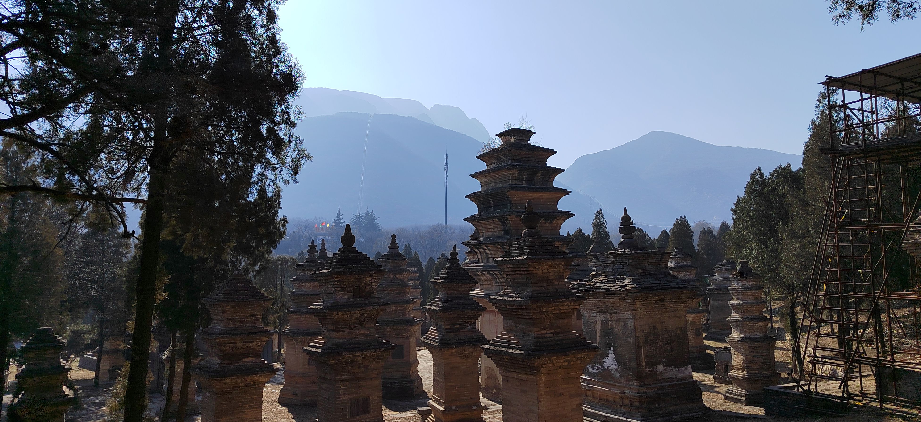
<svg viewBox="0 0 921 422">
<path fill-rule="evenodd" d="M 355 352 L 311 353 L 317 361 L 318 420 L 381 422 L 384 420 L 380 374 L 391 348 Z"/>
</svg>

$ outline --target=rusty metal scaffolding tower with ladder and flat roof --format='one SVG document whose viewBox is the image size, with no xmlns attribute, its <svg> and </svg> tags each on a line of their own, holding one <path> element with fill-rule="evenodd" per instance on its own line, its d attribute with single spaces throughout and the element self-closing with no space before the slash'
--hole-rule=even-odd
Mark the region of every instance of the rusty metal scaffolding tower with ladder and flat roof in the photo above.
<svg viewBox="0 0 921 422">
<path fill-rule="evenodd" d="M 906 236 L 921 198 L 921 54 L 822 83 L 831 183 L 794 348 L 799 388 L 921 407 L 921 283 Z M 805 269 L 805 268 L 804 268 Z"/>
</svg>

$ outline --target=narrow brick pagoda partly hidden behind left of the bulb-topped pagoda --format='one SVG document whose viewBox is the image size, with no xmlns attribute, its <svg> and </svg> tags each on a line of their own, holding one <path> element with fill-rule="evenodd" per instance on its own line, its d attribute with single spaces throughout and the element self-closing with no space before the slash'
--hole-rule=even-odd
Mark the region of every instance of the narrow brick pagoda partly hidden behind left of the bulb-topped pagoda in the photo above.
<svg viewBox="0 0 921 422">
<path fill-rule="evenodd" d="M 285 385 L 278 393 L 283 405 L 317 405 L 317 368 L 310 364 L 304 348 L 320 336 L 320 321 L 309 307 L 320 302 L 320 284 L 311 273 L 325 261 L 317 257 L 317 244 L 311 240 L 307 257 L 294 266 L 291 278 L 294 290 L 289 293 L 291 307 L 286 309 L 288 326 L 285 336 Z"/>
</svg>

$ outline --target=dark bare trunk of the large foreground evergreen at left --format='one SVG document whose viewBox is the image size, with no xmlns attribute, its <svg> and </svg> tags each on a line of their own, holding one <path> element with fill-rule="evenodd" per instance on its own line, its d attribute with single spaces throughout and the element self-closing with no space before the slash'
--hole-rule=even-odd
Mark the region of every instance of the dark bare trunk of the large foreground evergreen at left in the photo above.
<svg viewBox="0 0 921 422">
<path fill-rule="evenodd" d="M 134 292 L 134 333 L 131 338 L 131 363 L 124 392 L 124 422 L 141 422 L 146 407 L 147 361 L 150 356 L 150 330 L 157 302 L 157 272 L 160 259 L 160 232 L 163 230 L 164 172 L 169 161 L 166 146 L 157 143 L 151 153 L 150 181 L 144 237 Z"/>
</svg>

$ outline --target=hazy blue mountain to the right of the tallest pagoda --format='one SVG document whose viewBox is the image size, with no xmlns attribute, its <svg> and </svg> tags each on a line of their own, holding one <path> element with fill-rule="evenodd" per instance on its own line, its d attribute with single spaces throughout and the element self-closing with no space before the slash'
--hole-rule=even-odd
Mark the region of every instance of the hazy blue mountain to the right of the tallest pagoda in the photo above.
<svg viewBox="0 0 921 422">
<path fill-rule="evenodd" d="M 729 209 L 755 167 L 767 173 L 787 163 L 799 167 L 801 161 L 797 154 L 717 146 L 651 131 L 616 148 L 579 157 L 559 180 L 598 200 L 606 211 L 626 206 L 636 222 L 670 227 L 679 215 L 692 222 L 729 221 Z M 616 227 L 619 215 L 609 216 L 609 224 L 615 222 Z"/>
</svg>

